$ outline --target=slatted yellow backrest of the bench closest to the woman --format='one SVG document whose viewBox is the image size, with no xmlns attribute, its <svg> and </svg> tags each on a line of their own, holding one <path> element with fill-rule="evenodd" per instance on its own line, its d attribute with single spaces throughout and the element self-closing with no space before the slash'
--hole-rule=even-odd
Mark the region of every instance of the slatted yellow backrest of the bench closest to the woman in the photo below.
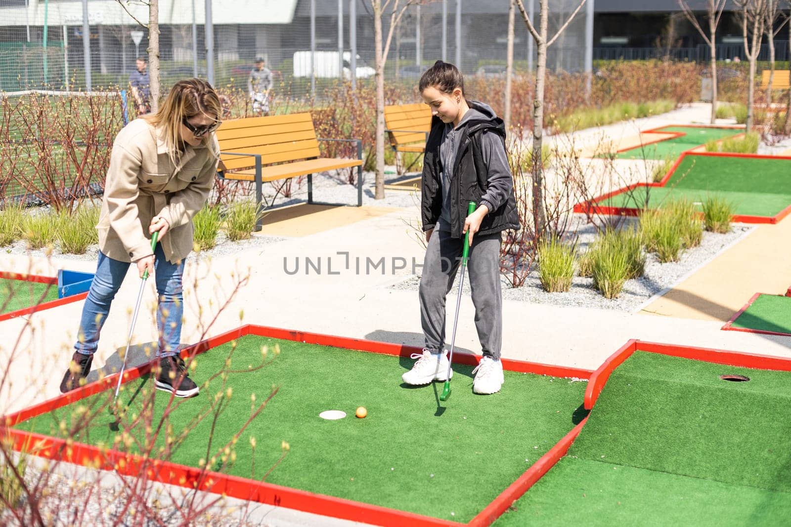
<svg viewBox="0 0 791 527">
<path fill-rule="evenodd" d="M 225 121 L 217 130 L 221 152 L 261 154 L 263 164 L 319 157 L 319 141 L 308 112 L 246 117 Z M 220 154 L 225 168 L 234 170 L 255 164 L 244 156 Z"/>
</svg>

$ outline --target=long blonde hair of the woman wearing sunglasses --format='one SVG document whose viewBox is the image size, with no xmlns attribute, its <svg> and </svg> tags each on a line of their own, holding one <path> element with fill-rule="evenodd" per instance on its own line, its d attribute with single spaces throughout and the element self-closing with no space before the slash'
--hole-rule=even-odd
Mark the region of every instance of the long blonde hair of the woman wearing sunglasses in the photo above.
<svg viewBox="0 0 791 527">
<path fill-rule="evenodd" d="M 176 82 L 157 113 L 146 115 L 143 119 L 161 129 L 160 133 L 165 136 L 165 145 L 168 145 L 168 154 L 176 164 L 176 154 L 181 142 L 181 123 L 184 119 L 199 114 L 220 119 L 222 107 L 214 88 L 203 79 L 193 78 Z"/>
</svg>

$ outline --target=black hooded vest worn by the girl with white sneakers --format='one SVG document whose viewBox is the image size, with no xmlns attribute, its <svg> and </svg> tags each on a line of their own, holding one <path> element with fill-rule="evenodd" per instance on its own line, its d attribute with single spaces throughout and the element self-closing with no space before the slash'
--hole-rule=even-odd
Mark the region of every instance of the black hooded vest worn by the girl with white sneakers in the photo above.
<svg viewBox="0 0 791 527">
<path fill-rule="evenodd" d="M 459 146 L 450 179 L 450 224 L 451 235 L 461 238 L 464 234 L 464 219 L 467 217 L 467 204 L 470 201 L 480 204 L 486 195 L 489 213 L 483 217 L 480 235 L 520 228 L 516 198 L 513 194 L 513 176 L 500 175 L 496 182 L 489 177 L 486 161 L 483 159 L 481 141 L 483 134 L 497 134 L 505 148 L 505 125 L 494 115 L 489 107 L 476 101 L 467 101 L 469 106 L 484 115 L 486 119 L 471 119 L 459 131 Z M 434 117 L 431 132 L 426 141 L 426 155 L 423 160 L 422 175 L 422 224 L 423 231 L 435 227 L 442 211 L 441 156 L 445 123 Z M 496 192 L 489 192 L 490 184 L 497 186 Z"/>
</svg>

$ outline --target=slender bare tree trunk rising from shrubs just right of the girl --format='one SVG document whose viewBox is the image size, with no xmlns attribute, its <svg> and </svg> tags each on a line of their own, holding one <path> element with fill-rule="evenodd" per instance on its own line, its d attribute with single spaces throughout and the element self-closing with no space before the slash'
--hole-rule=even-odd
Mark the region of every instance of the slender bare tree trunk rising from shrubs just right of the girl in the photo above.
<svg viewBox="0 0 791 527">
<path fill-rule="evenodd" d="M 543 159 L 541 147 L 543 145 L 543 98 L 544 78 L 547 76 L 547 19 L 549 14 L 548 0 L 540 0 L 541 9 L 539 36 L 536 42 L 538 67 L 536 68 L 536 99 L 533 100 L 533 221 L 536 236 L 540 239 L 547 228 L 547 216 L 544 211 L 543 196 Z"/>
</svg>

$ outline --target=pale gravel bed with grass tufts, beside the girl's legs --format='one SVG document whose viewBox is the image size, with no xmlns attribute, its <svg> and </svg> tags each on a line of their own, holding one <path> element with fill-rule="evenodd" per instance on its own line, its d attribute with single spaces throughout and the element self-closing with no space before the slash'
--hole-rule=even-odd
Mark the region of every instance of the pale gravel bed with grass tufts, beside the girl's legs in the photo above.
<svg viewBox="0 0 791 527">
<path fill-rule="evenodd" d="M 579 250 L 583 251 L 596 237 L 596 228 L 592 224 L 583 223 L 583 219 L 579 216 L 575 217 L 575 221 L 572 232 L 577 233 L 577 245 Z M 636 220 L 634 219 L 628 219 L 623 225 L 627 226 L 635 222 Z M 600 292 L 593 288 L 592 278 L 579 276 L 573 278 L 569 292 L 546 292 L 541 286 L 536 270 L 533 270 L 528 275 L 527 280 L 519 288 L 513 288 L 505 277 L 501 277 L 502 296 L 504 299 L 530 303 L 594 307 L 632 312 L 641 307 L 653 295 L 678 284 L 688 273 L 698 269 L 706 262 L 710 262 L 721 250 L 735 243 L 736 240 L 743 238 L 754 229 L 755 227 L 751 225 L 733 224 L 732 231 L 727 234 L 704 232 L 701 245 L 684 251 L 679 262 L 663 264 L 657 260 L 655 254 L 649 254 L 645 262 L 645 275 L 634 280 L 627 280 L 623 286 L 623 292 L 617 299 L 604 298 L 604 295 L 601 295 Z M 391 287 L 417 291 L 419 284 L 420 275 L 412 275 Z M 456 291 L 457 287 L 455 285 L 453 291 Z M 470 295 L 469 280 L 464 280 L 463 292 L 464 295 Z"/>
</svg>

